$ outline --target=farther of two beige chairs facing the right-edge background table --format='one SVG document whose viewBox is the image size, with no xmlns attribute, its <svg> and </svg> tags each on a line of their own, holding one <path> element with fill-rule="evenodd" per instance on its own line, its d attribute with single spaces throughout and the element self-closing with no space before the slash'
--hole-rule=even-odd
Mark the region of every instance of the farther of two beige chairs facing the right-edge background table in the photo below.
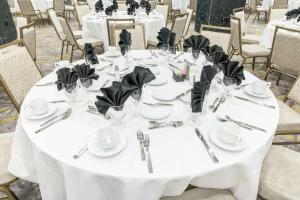
<svg viewBox="0 0 300 200">
<path fill-rule="evenodd" d="M 245 9 L 235 8 L 233 9 L 233 16 L 240 19 L 241 22 L 241 34 L 243 44 L 259 44 L 260 37 L 258 35 L 248 34 L 247 25 L 245 21 Z"/>
</svg>

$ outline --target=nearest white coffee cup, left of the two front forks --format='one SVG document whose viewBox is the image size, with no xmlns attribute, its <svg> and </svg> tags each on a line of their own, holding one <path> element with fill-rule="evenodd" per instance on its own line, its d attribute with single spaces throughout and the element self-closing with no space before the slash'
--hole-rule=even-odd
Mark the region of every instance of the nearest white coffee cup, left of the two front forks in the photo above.
<svg viewBox="0 0 300 200">
<path fill-rule="evenodd" d="M 114 148 L 120 142 L 120 134 L 111 127 L 105 127 L 97 131 L 96 144 L 104 150 Z"/>
</svg>

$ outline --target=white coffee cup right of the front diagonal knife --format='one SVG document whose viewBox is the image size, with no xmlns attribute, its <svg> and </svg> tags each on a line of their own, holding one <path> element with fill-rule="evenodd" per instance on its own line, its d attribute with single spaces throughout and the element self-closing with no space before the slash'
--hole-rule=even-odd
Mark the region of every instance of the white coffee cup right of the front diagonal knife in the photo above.
<svg viewBox="0 0 300 200">
<path fill-rule="evenodd" d="M 240 127 L 231 122 L 223 123 L 217 136 L 222 142 L 231 145 L 238 145 L 243 139 Z"/>
</svg>

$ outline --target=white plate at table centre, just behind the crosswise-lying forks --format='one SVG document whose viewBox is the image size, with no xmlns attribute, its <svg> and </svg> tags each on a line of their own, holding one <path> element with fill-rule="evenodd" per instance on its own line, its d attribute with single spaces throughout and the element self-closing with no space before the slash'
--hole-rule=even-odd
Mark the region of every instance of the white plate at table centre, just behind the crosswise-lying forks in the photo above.
<svg viewBox="0 0 300 200">
<path fill-rule="evenodd" d="M 141 115 L 147 119 L 160 120 L 165 119 L 172 113 L 172 106 L 141 106 Z"/>
</svg>

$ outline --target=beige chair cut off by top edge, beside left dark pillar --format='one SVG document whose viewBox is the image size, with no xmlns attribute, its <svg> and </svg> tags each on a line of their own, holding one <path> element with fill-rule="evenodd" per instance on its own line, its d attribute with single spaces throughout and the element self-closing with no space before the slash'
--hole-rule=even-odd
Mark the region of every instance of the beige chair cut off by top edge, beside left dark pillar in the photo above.
<svg viewBox="0 0 300 200">
<path fill-rule="evenodd" d="M 35 10 L 30 0 L 17 0 L 22 16 L 26 17 L 28 22 L 31 22 L 32 17 L 36 17 L 39 22 L 44 23 L 43 16 L 40 10 Z"/>
</svg>

